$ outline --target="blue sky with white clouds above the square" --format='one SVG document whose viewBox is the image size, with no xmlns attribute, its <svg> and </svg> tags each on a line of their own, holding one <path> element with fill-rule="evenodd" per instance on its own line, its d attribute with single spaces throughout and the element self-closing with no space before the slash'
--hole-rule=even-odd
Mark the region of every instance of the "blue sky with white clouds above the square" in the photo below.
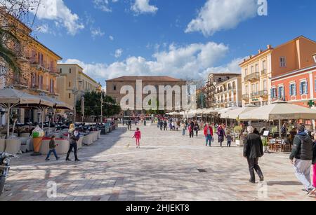
<svg viewBox="0 0 316 215">
<path fill-rule="evenodd" d="M 49 0 L 34 27 L 39 41 L 105 85 L 121 75 L 205 78 L 239 72 L 243 57 L 296 36 L 316 40 L 316 1 Z M 57 14 L 49 14 L 50 6 Z"/>
</svg>

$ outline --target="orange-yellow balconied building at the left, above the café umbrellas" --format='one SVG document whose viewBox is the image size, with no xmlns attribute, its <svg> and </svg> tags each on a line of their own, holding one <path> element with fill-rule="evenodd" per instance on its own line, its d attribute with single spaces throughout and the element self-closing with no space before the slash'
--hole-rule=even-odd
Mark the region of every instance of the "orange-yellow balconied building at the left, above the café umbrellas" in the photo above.
<svg viewBox="0 0 316 215">
<path fill-rule="evenodd" d="M 20 20 L 17 20 L 8 13 L 0 13 L 0 22 L 7 23 L 10 30 L 20 40 L 20 44 L 10 44 L 10 48 L 18 54 L 20 63 L 20 74 L 8 74 L 1 81 L 4 86 L 13 86 L 17 90 L 28 92 L 32 95 L 46 93 L 56 97 L 57 62 L 62 57 L 53 52 L 50 48 L 37 41 L 31 36 L 32 29 L 29 29 Z M 2 86 L 3 87 L 3 86 Z M 16 109 L 20 115 L 20 122 L 36 122 L 39 116 L 37 111 Z"/>
</svg>

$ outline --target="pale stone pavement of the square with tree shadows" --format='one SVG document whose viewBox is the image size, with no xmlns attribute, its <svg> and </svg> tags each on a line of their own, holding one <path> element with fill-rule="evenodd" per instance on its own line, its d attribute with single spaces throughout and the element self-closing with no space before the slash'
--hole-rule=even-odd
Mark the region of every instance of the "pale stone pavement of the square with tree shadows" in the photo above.
<svg viewBox="0 0 316 215">
<path fill-rule="evenodd" d="M 206 147 L 202 136 L 154 125 L 140 129 L 141 148 L 120 127 L 82 148 L 81 162 L 23 154 L 12 161 L 0 200 L 315 200 L 301 191 L 288 154 L 265 155 L 265 183 L 250 184 L 242 148 Z M 55 198 L 47 197 L 49 181 L 57 183 Z"/>
</svg>

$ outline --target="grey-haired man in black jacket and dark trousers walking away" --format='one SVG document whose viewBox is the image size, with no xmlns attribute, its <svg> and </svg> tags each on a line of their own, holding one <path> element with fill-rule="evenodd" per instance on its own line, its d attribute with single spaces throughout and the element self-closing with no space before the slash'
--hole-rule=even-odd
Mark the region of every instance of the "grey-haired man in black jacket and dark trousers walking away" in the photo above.
<svg viewBox="0 0 316 215">
<path fill-rule="evenodd" d="M 247 127 L 248 136 L 244 142 L 244 158 L 247 158 L 250 172 L 250 183 L 256 183 L 256 177 L 254 169 L 256 170 L 260 181 L 264 180 L 261 168 L 258 165 L 258 160 L 263 156 L 263 144 L 261 137 L 258 134 L 254 134 L 254 127 Z"/>
</svg>

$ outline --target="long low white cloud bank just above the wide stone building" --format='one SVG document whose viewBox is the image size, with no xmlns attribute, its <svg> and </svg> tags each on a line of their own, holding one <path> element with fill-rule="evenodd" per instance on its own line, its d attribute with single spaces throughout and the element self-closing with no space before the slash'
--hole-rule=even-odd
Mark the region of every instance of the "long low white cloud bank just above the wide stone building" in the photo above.
<svg viewBox="0 0 316 215">
<path fill-rule="evenodd" d="M 65 63 L 81 65 L 84 71 L 100 81 L 118 76 L 173 76 L 176 78 L 201 79 L 206 78 L 209 71 L 238 72 L 239 60 L 233 60 L 223 67 L 216 67 L 228 53 L 228 46 L 223 43 L 192 43 L 177 47 L 170 45 L 166 51 L 157 51 L 153 60 L 145 57 L 127 57 L 123 61 L 112 64 L 81 62 L 68 59 Z"/>
</svg>

